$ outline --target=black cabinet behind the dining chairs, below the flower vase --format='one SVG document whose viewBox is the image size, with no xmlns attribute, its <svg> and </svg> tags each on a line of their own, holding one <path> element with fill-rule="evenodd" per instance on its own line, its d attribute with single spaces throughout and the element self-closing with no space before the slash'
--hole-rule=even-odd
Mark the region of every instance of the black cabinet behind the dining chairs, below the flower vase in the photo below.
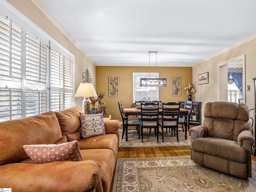
<svg viewBox="0 0 256 192">
<path fill-rule="evenodd" d="M 184 108 L 184 101 L 180 102 L 180 108 Z M 193 101 L 192 112 L 190 115 L 190 124 L 201 125 L 201 104 L 202 102 Z"/>
</svg>

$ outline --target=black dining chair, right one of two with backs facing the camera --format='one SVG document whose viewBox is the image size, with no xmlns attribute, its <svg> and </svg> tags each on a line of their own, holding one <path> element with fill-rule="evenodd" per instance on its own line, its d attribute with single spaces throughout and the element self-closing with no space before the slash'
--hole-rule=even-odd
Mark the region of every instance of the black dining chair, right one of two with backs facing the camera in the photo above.
<svg viewBox="0 0 256 192">
<path fill-rule="evenodd" d="M 164 142 L 164 128 L 169 128 L 172 131 L 172 135 L 177 136 L 177 142 L 179 142 L 178 137 L 178 120 L 180 115 L 180 103 L 168 102 L 163 103 L 162 107 L 162 117 L 158 120 L 158 125 L 162 129 L 162 142 Z"/>
</svg>

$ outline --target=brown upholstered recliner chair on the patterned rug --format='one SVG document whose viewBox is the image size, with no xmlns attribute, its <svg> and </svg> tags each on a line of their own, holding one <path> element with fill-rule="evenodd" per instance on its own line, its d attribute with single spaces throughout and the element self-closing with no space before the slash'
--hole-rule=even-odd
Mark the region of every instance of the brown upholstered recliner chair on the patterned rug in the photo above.
<svg viewBox="0 0 256 192">
<path fill-rule="evenodd" d="M 208 102 L 202 125 L 189 130 L 191 160 L 240 178 L 252 177 L 249 108 L 233 102 Z"/>
</svg>

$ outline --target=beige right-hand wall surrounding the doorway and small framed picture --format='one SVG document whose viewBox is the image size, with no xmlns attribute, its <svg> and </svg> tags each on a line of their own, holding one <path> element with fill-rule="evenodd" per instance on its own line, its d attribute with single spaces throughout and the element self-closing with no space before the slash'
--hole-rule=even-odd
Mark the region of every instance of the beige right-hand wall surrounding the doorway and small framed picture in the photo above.
<svg viewBox="0 0 256 192">
<path fill-rule="evenodd" d="M 249 42 L 236 46 L 231 50 L 193 66 L 194 81 L 197 80 L 198 74 L 209 72 L 209 83 L 198 85 L 195 94 L 196 100 L 202 101 L 202 119 L 204 105 L 207 102 L 218 100 L 218 64 L 242 55 L 245 55 L 245 85 L 250 85 L 251 87 L 250 91 L 246 91 L 245 89 L 244 97 L 249 108 L 254 108 L 254 81 L 252 78 L 256 77 L 256 39 L 252 38 Z M 250 112 L 250 116 L 254 118 L 254 110 Z"/>
</svg>

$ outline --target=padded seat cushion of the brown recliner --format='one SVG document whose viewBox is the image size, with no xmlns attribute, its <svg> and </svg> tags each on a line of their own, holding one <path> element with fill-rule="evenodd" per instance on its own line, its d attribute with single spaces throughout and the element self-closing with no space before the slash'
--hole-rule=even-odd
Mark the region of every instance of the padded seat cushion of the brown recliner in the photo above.
<svg viewBox="0 0 256 192">
<path fill-rule="evenodd" d="M 246 163 L 246 149 L 240 147 L 236 141 L 205 137 L 193 139 L 191 145 L 196 152 Z"/>
</svg>

